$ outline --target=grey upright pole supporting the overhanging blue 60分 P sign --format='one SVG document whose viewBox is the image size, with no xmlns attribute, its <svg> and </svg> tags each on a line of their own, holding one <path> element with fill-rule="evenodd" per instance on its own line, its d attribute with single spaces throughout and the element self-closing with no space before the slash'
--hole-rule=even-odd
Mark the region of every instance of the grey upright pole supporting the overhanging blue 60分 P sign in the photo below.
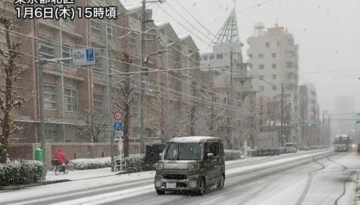
<svg viewBox="0 0 360 205">
<path fill-rule="evenodd" d="M 43 180 L 46 179 L 46 166 L 45 166 L 45 123 L 44 123 L 44 114 L 43 114 L 43 76 L 42 76 L 42 71 L 43 71 L 43 64 L 45 63 L 44 61 L 41 60 L 42 59 L 42 55 L 39 55 L 39 60 L 37 62 L 37 69 L 39 72 L 39 103 L 40 103 L 40 143 L 41 143 L 41 149 L 42 149 L 42 162 L 44 165 L 44 175 L 43 175 Z"/>
</svg>

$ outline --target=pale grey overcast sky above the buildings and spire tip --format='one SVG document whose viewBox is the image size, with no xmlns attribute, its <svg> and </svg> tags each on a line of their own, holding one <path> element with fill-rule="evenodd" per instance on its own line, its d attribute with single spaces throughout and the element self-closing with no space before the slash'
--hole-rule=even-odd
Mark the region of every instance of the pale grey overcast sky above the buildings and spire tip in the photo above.
<svg viewBox="0 0 360 205">
<path fill-rule="evenodd" d="M 139 0 L 122 1 L 126 5 L 140 4 Z M 216 34 L 233 8 L 233 0 L 177 1 L 213 34 Z M 260 5 L 255 6 L 257 4 Z M 212 39 L 213 36 L 175 0 L 148 4 L 148 8 L 153 9 L 155 21 L 170 22 L 178 34 L 190 33 L 162 9 L 169 12 L 198 36 L 191 34 L 200 52 L 204 52 L 207 44 L 202 40 L 207 43 L 210 40 L 169 5 Z M 240 40 L 245 45 L 243 53 L 248 48 L 246 39 L 253 34 L 254 22 L 261 21 L 270 27 L 277 18 L 279 26 L 287 27 L 294 35 L 295 43 L 299 44 L 300 82 L 314 83 L 321 110 L 333 108 L 335 96 L 353 95 L 356 101 L 360 100 L 360 80 L 357 79 L 360 77 L 360 0 L 237 0 L 235 9 Z M 244 58 L 247 59 L 247 56 Z M 360 110 L 360 106 L 355 106 L 355 109 Z"/>
</svg>

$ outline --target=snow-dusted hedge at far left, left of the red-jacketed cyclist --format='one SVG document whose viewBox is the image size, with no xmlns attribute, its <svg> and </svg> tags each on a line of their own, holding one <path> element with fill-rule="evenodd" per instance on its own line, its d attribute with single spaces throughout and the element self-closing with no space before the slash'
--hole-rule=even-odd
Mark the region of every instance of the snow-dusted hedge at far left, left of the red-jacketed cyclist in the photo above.
<svg viewBox="0 0 360 205">
<path fill-rule="evenodd" d="M 36 183 L 44 174 L 40 161 L 21 160 L 0 164 L 0 187 Z"/>
</svg>

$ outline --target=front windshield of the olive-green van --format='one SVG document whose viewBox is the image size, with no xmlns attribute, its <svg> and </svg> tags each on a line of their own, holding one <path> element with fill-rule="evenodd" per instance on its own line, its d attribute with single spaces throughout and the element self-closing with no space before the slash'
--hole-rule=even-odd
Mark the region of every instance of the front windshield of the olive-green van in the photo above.
<svg viewBox="0 0 360 205">
<path fill-rule="evenodd" d="M 195 160 L 201 158 L 199 143 L 168 143 L 164 159 L 167 160 Z"/>
</svg>

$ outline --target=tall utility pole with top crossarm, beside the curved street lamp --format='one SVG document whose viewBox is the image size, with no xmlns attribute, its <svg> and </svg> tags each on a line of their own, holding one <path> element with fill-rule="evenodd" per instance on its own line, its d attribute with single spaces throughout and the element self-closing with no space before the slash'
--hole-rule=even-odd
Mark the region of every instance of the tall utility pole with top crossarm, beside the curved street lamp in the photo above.
<svg viewBox="0 0 360 205">
<path fill-rule="evenodd" d="M 146 1 L 146 0 L 142 0 L 142 6 L 141 6 L 141 71 L 145 70 L 145 63 L 146 61 L 144 60 L 144 55 L 145 55 L 145 26 L 146 26 L 146 22 L 147 22 L 147 18 L 146 18 L 146 3 L 162 3 L 164 2 L 164 0 L 153 0 L 153 1 Z M 140 95 L 140 103 L 141 103 L 141 107 L 140 107 L 140 153 L 145 153 L 145 121 L 144 121 L 144 106 L 145 106 L 145 101 L 144 101 L 144 95 L 145 95 L 145 73 L 141 72 L 141 95 Z"/>
</svg>

